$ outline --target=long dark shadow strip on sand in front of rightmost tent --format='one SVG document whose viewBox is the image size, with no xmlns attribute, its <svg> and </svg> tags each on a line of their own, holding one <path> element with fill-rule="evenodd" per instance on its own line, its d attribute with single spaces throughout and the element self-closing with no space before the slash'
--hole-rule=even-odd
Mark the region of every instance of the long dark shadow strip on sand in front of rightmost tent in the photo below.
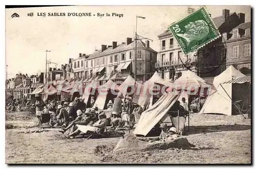
<svg viewBox="0 0 256 169">
<path fill-rule="evenodd" d="M 250 125 L 217 125 L 217 126 L 188 126 L 185 127 L 185 131 L 188 135 L 199 133 L 214 133 L 222 131 L 242 131 L 251 129 Z"/>
</svg>

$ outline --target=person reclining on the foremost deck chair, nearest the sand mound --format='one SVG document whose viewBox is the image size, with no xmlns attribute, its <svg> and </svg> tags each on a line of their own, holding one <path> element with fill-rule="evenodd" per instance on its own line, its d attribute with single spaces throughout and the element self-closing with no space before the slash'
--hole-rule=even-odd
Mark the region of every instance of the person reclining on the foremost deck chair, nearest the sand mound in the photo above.
<svg viewBox="0 0 256 169">
<path fill-rule="evenodd" d="M 83 132 L 86 134 L 88 131 L 91 132 L 97 132 L 99 133 L 102 129 L 104 129 L 105 125 L 108 123 L 108 119 L 106 118 L 106 115 L 104 112 L 100 112 L 99 115 L 99 120 L 93 124 L 93 125 L 81 125 L 74 131 L 73 133 L 69 134 L 67 138 L 74 138 L 75 136 L 79 135 L 80 132 Z"/>
</svg>

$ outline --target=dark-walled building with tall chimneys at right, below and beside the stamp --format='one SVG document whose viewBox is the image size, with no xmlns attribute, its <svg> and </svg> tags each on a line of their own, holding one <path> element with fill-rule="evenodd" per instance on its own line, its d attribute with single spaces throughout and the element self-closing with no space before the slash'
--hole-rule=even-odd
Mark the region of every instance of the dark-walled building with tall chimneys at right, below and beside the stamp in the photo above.
<svg viewBox="0 0 256 169">
<path fill-rule="evenodd" d="M 238 43 L 245 43 L 246 39 L 250 39 L 250 37 L 244 36 L 245 30 L 239 28 L 240 25 L 241 28 L 246 27 L 246 25 L 244 25 L 244 13 L 229 13 L 228 9 L 223 9 L 222 15 L 212 18 L 212 20 L 214 21 L 222 36 L 215 41 L 208 43 L 198 51 L 197 68 L 198 75 L 200 77 L 215 77 L 219 75 L 222 71 L 226 69 L 226 65 L 230 65 L 231 62 L 236 62 L 236 60 L 231 59 L 232 47 L 230 45 L 236 45 L 236 47 L 238 47 Z M 232 35 L 233 30 L 235 33 L 234 35 Z M 234 51 L 236 49 L 234 49 Z M 241 45 L 240 49 L 240 53 L 244 53 L 242 51 Z M 238 51 L 239 50 L 237 49 L 236 52 L 238 53 Z M 243 54 L 240 54 L 240 56 L 242 55 Z"/>
</svg>

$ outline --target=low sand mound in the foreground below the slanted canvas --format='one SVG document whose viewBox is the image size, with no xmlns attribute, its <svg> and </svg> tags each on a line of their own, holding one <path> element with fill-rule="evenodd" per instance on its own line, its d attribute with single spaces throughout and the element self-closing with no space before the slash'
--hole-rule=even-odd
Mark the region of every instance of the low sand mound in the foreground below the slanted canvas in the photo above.
<svg viewBox="0 0 256 169">
<path fill-rule="evenodd" d="M 124 136 L 114 148 L 113 152 L 117 151 L 151 151 L 151 150 L 165 150 L 169 148 L 183 148 L 191 149 L 196 147 L 190 144 L 185 137 L 179 137 L 176 141 L 171 142 L 147 142 L 138 139 L 134 134 L 130 133 Z"/>
</svg>

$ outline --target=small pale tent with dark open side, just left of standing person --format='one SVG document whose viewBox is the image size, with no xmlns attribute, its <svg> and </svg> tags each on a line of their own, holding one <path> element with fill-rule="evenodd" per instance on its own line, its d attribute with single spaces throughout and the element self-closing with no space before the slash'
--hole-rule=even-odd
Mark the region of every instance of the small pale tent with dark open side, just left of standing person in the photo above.
<svg viewBox="0 0 256 169">
<path fill-rule="evenodd" d="M 105 84 L 99 86 L 98 93 L 99 94 L 93 105 L 93 108 L 97 106 L 98 109 L 103 110 L 110 100 L 113 101 L 114 98 L 116 98 L 118 93 L 118 85 L 112 80 L 109 80 Z"/>
</svg>

